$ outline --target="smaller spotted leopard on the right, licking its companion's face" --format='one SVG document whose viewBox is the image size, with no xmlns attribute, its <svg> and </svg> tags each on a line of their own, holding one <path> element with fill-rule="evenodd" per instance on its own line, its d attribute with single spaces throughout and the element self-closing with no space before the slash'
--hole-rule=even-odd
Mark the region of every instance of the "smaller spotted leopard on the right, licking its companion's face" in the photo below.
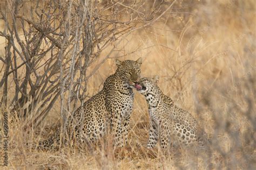
<svg viewBox="0 0 256 170">
<path fill-rule="evenodd" d="M 192 115 L 174 105 L 170 97 L 166 96 L 157 86 L 158 76 L 151 79 L 140 79 L 134 86 L 140 94 L 143 94 L 149 105 L 150 134 L 147 143 L 152 148 L 160 141 L 160 145 L 166 148 L 173 143 L 188 145 L 199 141 L 203 147 L 203 141 L 198 138 L 198 123 Z"/>
</svg>

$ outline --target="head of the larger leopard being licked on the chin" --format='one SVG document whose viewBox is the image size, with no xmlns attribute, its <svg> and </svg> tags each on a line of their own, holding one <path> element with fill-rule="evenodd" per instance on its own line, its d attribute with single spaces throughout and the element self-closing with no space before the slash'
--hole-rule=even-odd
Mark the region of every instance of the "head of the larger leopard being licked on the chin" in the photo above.
<svg viewBox="0 0 256 170">
<path fill-rule="evenodd" d="M 140 66 L 142 65 L 142 58 L 137 61 L 133 60 L 116 60 L 118 76 L 130 85 L 134 85 L 133 82 L 137 82 L 140 78 Z"/>
</svg>

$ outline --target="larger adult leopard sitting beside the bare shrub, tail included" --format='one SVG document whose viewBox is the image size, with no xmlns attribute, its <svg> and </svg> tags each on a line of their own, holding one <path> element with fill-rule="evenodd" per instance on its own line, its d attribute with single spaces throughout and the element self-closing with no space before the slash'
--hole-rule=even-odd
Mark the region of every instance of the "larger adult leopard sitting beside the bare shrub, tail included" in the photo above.
<svg viewBox="0 0 256 170">
<path fill-rule="evenodd" d="M 132 84 L 140 78 L 142 58 L 137 61 L 116 60 L 116 65 L 116 72 L 107 77 L 103 89 L 69 117 L 65 128 L 80 143 L 98 140 L 108 128 L 113 133 L 117 147 L 127 143 L 134 98 Z M 55 148 L 59 140 L 60 127 L 48 139 L 39 141 L 37 146 L 43 149 Z"/>
</svg>

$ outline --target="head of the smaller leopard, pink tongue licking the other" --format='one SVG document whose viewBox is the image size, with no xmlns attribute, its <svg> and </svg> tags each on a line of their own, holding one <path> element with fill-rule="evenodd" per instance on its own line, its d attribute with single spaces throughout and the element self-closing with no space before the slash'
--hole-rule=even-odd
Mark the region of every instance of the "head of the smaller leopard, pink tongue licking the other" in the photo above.
<svg viewBox="0 0 256 170">
<path fill-rule="evenodd" d="M 136 90 L 141 94 L 147 94 L 150 91 L 158 89 L 157 83 L 159 81 L 159 76 L 156 75 L 153 78 L 143 77 L 135 84 Z"/>
</svg>

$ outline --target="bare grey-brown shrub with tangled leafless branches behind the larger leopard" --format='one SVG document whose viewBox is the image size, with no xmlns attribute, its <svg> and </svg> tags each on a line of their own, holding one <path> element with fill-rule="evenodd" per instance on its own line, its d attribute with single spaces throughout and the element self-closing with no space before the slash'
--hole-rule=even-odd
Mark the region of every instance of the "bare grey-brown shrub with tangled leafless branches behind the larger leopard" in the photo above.
<svg viewBox="0 0 256 170">
<path fill-rule="evenodd" d="M 97 1 L 8 1 L 1 11 L 6 39 L 1 103 L 13 107 L 25 128 L 37 127 L 60 98 L 63 124 L 83 102 L 89 79 L 131 32 L 163 15 L 161 3 Z M 142 9 L 147 9 L 142 11 Z M 151 13 L 146 13 L 151 10 Z M 157 15 L 156 15 L 157 14 Z M 157 16 L 157 17 L 155 17 Z M 87 68 L 99 60 L 90 74 Z M 23 72 L 23 74 L 19 74 Z M 12 80 L 14 87 L 8 86 Z M 14 88 L 14 96 L 9 96 Z M 8 102 L 10 101 L 10 102 Z M 73 103 L 73 105 L 71 105 Z"/>
</svg>

